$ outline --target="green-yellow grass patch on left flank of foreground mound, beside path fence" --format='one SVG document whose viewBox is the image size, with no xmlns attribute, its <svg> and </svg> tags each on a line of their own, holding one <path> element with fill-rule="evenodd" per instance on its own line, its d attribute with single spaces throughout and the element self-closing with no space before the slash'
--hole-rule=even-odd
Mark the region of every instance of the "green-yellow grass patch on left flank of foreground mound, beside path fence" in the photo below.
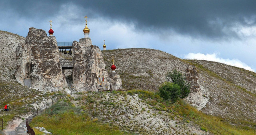
<svg viewBox="0 0 256 135">
<path fill-rule="evenodd" d="M 57 135 L 120 135 L 118 127 L 102 124 L 87 113 L 81 113 L 80 107 L 71 103 L 58 102 L 44 114 L 35 117 L 31 127 L 44 127 Z"/>
</svg>

